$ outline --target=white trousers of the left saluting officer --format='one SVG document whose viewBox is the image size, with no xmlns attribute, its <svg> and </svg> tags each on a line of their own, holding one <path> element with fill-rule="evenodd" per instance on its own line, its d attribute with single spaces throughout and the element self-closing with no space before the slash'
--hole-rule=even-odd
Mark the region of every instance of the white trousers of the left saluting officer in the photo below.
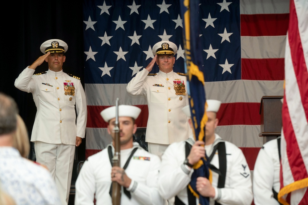
<svg viewBox="0 0 308 205">
<path fill-rule="evenodd" d="M 68 204 L 75 145 L 34 142 L 36 161 L 45 165 L 55 179 L 62 205 Z"/>
</svg>

